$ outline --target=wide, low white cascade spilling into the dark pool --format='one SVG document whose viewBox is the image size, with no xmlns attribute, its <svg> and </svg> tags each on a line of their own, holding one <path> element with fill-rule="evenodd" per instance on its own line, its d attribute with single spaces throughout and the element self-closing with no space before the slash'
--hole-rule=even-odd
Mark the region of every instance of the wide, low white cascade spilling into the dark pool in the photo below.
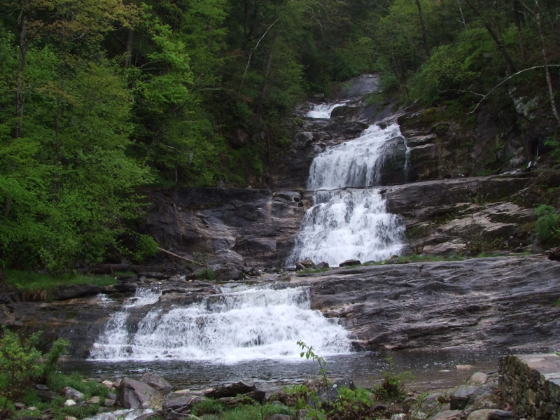
<svg viewBox="0 0 560 420">
<path fill-rule="evenodd" d="M 92 360 L 299 360 L 298 340 L 321 356 L 350 351 L 348 332 L 310 309 L 305 288 L 241 286 L 189 306 L 154 304 L 144 308 L 137 330 L 130 332 L 127 319 L 135 304 L 125 304 L 111 317 L 93 346 Z"/>
</svg>

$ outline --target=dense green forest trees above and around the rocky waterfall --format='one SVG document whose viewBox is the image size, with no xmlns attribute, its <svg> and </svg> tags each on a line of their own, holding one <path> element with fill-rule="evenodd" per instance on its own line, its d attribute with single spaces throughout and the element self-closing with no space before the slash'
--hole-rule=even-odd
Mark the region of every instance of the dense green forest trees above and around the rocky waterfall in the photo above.
<svg viewBox="0 0 560 420">
<path fill-rule="evenodd" d="M 265 185 L 296 104 L 360 73 L 400 104 L 464 113 L 510 78 L 560 124 L 559 13 L 559 0 L 3 0 L 0 267 L 155 253 L 135 228 L 141 187 Z"/>
</svg>

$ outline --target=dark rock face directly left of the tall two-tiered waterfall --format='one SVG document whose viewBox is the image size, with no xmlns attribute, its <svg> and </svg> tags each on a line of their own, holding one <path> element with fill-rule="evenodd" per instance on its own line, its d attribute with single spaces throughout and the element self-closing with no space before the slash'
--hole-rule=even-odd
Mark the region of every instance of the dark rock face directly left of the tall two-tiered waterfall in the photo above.
<svg viewBox="0 0 560 420">
<path fill-rule="evenodd" d="M 145 230 L 162 248 L 212 255 L 207 264 L 232 265 L 237 276 L 246 265 L 281 265 L 304 214 L 293 191 L 185 188 L 152 191 L 149 200 Z"/>
</svg>

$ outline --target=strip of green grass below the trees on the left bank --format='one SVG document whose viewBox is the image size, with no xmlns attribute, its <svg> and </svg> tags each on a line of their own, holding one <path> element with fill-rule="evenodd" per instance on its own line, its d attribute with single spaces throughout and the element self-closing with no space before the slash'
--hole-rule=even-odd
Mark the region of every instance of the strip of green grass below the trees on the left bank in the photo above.
<svg viewBox="0 0 560 420">
<path fill-rule="evenodd" d="M 83 274 L 65 273 L 56 276 L 34 272 L 7 269 L 3 281 L 22 291 L 55 290 L 60 286 L 92 284 L 94 286 L 110 286 L 117 282 L 115 276 L 86 276 Z"/>
</svg>

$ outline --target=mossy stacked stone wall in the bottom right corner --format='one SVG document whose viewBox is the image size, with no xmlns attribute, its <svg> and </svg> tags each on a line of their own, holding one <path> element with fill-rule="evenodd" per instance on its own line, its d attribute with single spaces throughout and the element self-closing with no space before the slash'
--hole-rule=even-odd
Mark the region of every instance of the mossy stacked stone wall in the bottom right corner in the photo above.
<svg viewBox="0 0 560 420">
<path fill-rule="evenodd" d="M 500 358 L 499 389 L 519 416 L 560 419 L 560 356 L 530 354 Z"/>
</svg>

